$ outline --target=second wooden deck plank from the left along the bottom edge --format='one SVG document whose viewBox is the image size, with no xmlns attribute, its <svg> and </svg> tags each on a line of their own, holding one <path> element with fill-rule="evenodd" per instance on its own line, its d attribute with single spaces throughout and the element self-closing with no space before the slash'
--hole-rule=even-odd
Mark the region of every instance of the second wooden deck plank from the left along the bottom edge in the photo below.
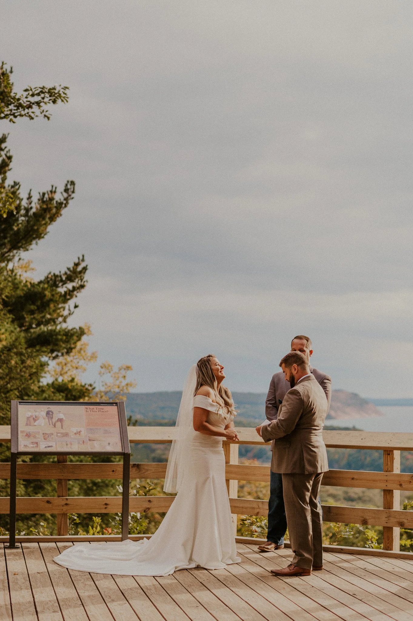
<svg viewBox="0 0 413 621">
<path fill-rule="evenodd" d="M 23 552 L 20 548 L 5 552 L 13 620 L 38 621 Z"/>
</svg>

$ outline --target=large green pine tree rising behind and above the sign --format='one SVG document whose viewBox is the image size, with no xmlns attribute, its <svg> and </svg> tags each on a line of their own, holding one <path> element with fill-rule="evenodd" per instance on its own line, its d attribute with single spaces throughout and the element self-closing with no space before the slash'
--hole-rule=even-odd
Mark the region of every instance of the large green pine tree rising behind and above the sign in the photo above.
<svg viewBox="0 0 413 621">
<path fill-rule="evenodd" d="M 9 424 L 11 399 L 72 399 L 70 381 L 43 383 L 51 361 L 68 354 L 81 340 L 84 329 L 69 328 L 74 301 L 86 286 L 84 257 L 63 272 L 49 273 L 35 281 L 23 252 L 47 235 L 48 228 L 69 206 L 74 181 L 61 196 L 52 186 L 24 200 L 20 184 L 7 184 L 12 156 L 0 138 L 0 175 L 6 191 L 0 196 L 0 424 Z M 7 205 L 5 204 L 7 201 Z M 91 386 L 76 386 L 76 399 L 85 398 Z"/>
</svg>

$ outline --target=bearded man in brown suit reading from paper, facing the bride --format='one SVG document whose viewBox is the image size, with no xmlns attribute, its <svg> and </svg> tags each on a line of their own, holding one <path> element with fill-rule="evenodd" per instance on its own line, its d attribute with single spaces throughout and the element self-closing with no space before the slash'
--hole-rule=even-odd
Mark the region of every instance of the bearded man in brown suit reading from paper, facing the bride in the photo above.
<svg viewBox="0 0 413 621">
<path fill-rule="evenodd" d="M 286 522 L 292 562 L 272 569 L 276 576 L 309 576 L 322 569 L 322 512 L 318 502 L 322 474 L 328 468 L 322 428 L 327 416 L 326 394 L 300 351 L 290 351 L 280 367 L 291 389 L 278 417 L 257 427 L 265 442 L 275 440 L 271 470 L 282 473 Z"/>
</svg>

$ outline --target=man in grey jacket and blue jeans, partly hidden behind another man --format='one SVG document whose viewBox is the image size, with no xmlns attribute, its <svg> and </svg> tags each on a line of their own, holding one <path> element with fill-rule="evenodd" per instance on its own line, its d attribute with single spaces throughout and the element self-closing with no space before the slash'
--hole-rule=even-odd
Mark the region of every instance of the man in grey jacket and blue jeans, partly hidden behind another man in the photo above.
<svg viewBox="0 0 413 621">
<path fill-rule="evenodd" d="M 309 364 L 313 349 L 311 348 L 311 338 L 299 334 L 291 341 L 291 351 L 300 351 Z M 331 378 L 314 369 L 309 364 L 309 371 L 314 375 L 321 388 L 326 393 L 327 403 L 330 407 L 331 401 Z M 291 388 L 290 383 L 286 381 L 282 371 L 275 373 L 270 382 L 270 388 L 265 401 L 265 416 L 267 420 L 277 419 L 278 410 L 283 402 L 285 394 Z M 328 411 L 328 410 L 327 410 Z M 271 450 L 274 448 L 274 442 L 271 443 Z M 282 474 L 271 471 L 270 478 L 270 498 L 268 512 L 268 533 L 267 542 L 259 546 L 261 552 L 270 552 L 272 550 L 280 550 L 284 547 L 284 535 L 286 531 L 286 517 L 283 498 L 283 480 Z"/>
</svg>

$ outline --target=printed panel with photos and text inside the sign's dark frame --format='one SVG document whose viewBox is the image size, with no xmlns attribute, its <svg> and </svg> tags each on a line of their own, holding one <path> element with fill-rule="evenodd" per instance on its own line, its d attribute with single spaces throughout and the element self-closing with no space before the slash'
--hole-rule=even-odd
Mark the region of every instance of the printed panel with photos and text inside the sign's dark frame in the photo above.
<svg viewBox="0 0 413 621">
<path fill-rule="evenodd" d="M 116 404 L 19 403 L 19 451 L 122 451 Z"/>
</svg>

